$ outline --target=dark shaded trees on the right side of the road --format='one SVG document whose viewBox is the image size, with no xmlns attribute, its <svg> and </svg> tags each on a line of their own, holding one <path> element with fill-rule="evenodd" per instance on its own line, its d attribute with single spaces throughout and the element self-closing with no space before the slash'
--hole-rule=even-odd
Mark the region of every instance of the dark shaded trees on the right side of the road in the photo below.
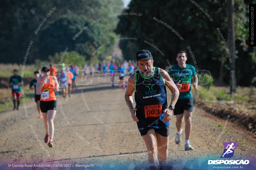
<svg viewBox="0 0 256 170">
<path fill-rule="evenodd" d="M 248 47 L 249 3 L 253 1 L 237 0 L 234 5 L 237 86 L 256 85 L 256 61 L 254 60 L 256 47 Z M 143 8 L 140 4 L 143 4 Z M 167 65 L 167 59 L 170 60 L 171 65 L 176 64 L 177 51 L 191 47 L 199 70 L 208 70 L 211 76 L 217 79 L 221 75 L 221 81 L 229 84 L 230 62 L 217 31 L 217 28 L 220 28 L 228 44 L 227 0 L 204 1 L 200 2 L 200 6 L 214 21 L 210 21 L 204 11 L 187 0 L 132 0 L 129 9 L 125 9 L 124 12 L 140 12 L 143 15 L 119 16 L 120 22 L 115 29 L 121 37 L 138 38 L 138 40 L 120 41 L 120 48 L 125 59 L 131 59 L 137 50 L 148 49 L 154 57 L 155 66 L 163 67 Z M 161 22 L 153 20 L 154 17 L 172 26 L 184 40 L 181 40 Z M 157 46 L 165 55 L 162 56 L 154 47 L 146 44 L 145 40 Z M 188 54 L 187 57 L 187 63 L 193 65 L 192 56 Z"/>
</svg>

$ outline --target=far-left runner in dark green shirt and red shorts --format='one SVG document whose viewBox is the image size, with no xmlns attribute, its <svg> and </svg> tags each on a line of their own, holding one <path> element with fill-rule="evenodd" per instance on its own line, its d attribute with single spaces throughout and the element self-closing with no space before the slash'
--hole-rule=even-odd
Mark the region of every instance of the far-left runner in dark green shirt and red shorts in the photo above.
<svg viewBox="0 0 256 170">
<path fill-rule="evenodd" d="M 16 108 L 16 99 L 17 99 L 17 110 L 19 110 L 19 100 L 21 97 L 21 88 L 20 85 L 23 84 L 23 80 L 20 76 L 18 76 L 18 72 L 16 69 L 13 70 L 13 76 L 10 78 L 10 86 L 12 87 L 12 95 L 13 95 L 13 104 L 14 108 Z"/>
</svg>

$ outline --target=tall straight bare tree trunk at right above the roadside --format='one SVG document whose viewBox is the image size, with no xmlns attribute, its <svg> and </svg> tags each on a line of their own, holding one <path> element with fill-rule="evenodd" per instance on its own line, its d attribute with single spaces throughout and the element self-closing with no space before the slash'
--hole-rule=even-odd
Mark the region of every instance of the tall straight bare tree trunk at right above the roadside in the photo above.
<svg viewBox="0 0 256 170">
<path fill-rule="evenodd" d="M 235 59 L 235 27 L 234 27 L 234 0 L 228 0 L 228 45 L 231 54 L 230 61 L 230 94 L 236 92 L 236 59 Z M 232 77 L 231 77 L 232 76 Z M 232 85 L 234 87 L 232 87 Z"/>
</svg>

